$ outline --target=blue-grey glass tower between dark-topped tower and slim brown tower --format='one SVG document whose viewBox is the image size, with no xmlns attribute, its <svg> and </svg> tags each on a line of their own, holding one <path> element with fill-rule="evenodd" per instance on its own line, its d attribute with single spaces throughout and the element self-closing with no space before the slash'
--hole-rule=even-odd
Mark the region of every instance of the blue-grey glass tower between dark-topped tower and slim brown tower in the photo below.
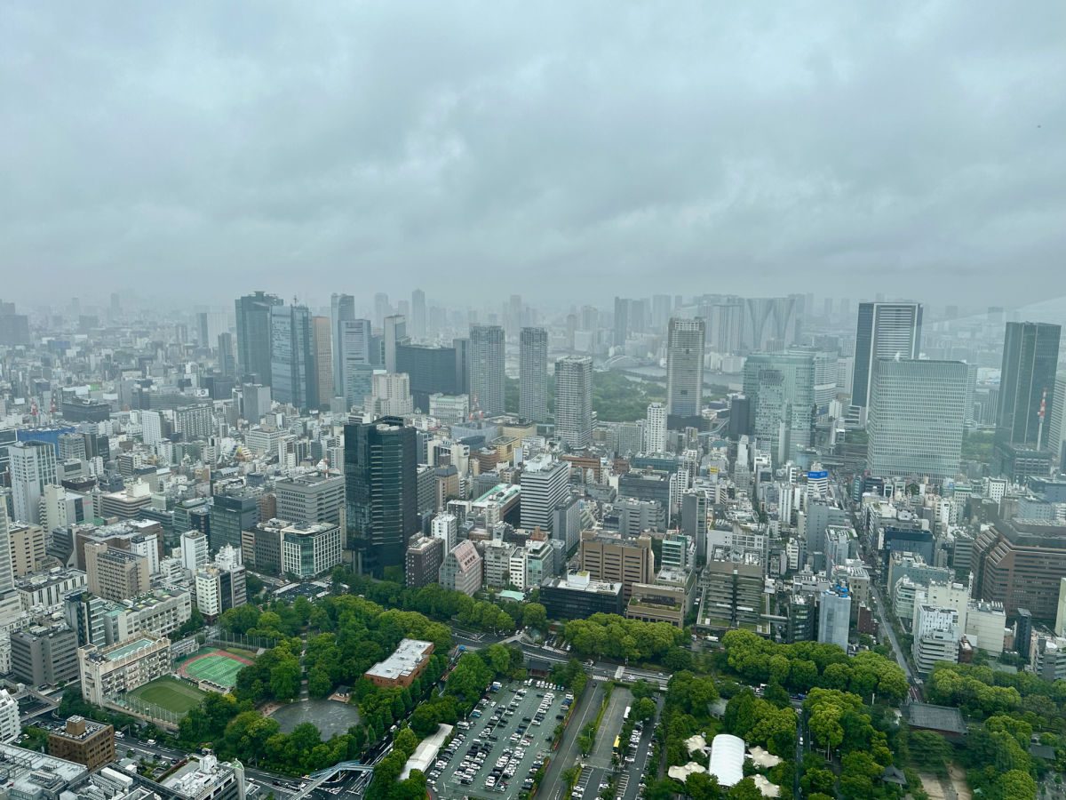
<svg viewBox="0 0 1066 800">
<path fill-rule="evenodd" d="M 317 409 L 318 378 L 306 305 L 271 307 L 271 389 L 279 403 Z"/>
</svg>

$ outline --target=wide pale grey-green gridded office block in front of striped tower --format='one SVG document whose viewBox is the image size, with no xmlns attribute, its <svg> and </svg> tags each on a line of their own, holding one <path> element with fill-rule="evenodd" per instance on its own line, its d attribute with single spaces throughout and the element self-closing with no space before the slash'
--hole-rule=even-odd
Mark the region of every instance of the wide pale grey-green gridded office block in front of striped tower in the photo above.
<svg viewBox="0 0 1066 800">
<path fill-rule="evenodd" d="M 867 461 L 876 477 L 953 478 L 966 418 L 963 362 L 874 362 Z"/>
</svg>

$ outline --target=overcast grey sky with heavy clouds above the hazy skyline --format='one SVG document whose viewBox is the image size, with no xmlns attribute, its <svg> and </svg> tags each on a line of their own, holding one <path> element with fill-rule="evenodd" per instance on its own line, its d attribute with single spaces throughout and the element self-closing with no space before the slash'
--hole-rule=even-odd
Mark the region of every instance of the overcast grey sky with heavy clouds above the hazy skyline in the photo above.
<svg viewBox="0 0 1066 800">
<path fill-rule="evenodd" d="M 1064 7 L 3 3 L 0 297 L 1063 294 Z"/>
</svg>

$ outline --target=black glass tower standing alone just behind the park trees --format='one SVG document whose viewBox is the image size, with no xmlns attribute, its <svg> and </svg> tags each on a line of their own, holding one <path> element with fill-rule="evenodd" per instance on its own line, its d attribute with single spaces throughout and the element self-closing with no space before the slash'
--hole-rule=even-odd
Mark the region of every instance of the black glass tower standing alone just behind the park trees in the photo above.
<svg viewBox="0 0 1066 800">
<path fill-rule="evenodd" d="M 417 434 L 397 417 L 344 426 L 348 547 L 360 573 L 403 571 L 419 532 Z"/>
</svg>

